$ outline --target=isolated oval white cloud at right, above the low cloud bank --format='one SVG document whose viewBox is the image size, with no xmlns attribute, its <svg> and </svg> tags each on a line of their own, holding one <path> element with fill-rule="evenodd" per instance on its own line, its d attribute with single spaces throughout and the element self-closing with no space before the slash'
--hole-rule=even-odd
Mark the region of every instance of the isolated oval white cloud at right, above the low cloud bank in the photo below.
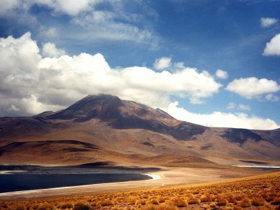
<svg viewBox="0 0 280 210">
<path fill-rule="evenodd" d="M 229 83 L 225 89 L 235 92 L 246 99 L 253 99 L 259 98 L 263 94 L 279 91 L 280 85 L 278 85 L 274 80 L 250 77 L 235 79 Z"/>
</svg>

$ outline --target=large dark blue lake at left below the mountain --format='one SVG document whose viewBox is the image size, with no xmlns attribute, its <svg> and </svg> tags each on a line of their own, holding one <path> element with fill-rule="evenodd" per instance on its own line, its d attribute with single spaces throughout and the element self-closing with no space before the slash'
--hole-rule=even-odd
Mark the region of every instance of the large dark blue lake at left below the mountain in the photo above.
<svg viewBox="0 0 280 210">
<path fill-rule="evenodd" d="M 147 179 L 143 174 L 0 174 L 0 193 Z"/>
</svg>

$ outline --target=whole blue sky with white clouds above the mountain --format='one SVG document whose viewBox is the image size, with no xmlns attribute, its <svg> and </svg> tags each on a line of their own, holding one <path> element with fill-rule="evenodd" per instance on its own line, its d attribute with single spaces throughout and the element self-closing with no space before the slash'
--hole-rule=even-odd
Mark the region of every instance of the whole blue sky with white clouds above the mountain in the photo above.
<svg viewBox="0 0 280 210">
<path fill-rule="evenodd" d="M 280 1 L 1 0 L 0 116 L 113 94 L 210 127 L 280 127 Z"/>
</svg>

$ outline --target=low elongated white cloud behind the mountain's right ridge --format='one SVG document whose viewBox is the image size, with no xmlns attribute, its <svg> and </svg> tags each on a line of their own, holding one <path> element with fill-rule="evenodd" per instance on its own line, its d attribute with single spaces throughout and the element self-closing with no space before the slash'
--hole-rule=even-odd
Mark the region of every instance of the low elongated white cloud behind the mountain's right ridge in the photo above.
<svg viewBox="0 0 280 210">
<path fill-rule="evenodd" d="M 167 109 L 162 110 L 179 120 L 209 127 L 236 127 L 255 130 L 272 130 L 280 127 L 269 118 L 249 117 L 245 113 L 223 113 L 218 111 L 209 114 L 193 113 L 179 107 L 178 102 L 173 102 L 169 104 Z"/>
</svg>

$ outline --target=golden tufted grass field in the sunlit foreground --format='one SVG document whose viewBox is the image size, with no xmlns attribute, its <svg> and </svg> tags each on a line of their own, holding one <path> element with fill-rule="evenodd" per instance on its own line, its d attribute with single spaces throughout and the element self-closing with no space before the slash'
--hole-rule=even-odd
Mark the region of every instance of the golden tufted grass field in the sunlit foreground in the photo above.
<svg viewBox="0 0 280 210">
<path fill-rule="evenodd" d="M 140 188 L 141 186 L 139 186 Z M 71 189 L 69 189 L 71 190 Z M 280 209 L 280 172 L 230 181 L 5 201 L 1 209 Z"/>
</svg>

